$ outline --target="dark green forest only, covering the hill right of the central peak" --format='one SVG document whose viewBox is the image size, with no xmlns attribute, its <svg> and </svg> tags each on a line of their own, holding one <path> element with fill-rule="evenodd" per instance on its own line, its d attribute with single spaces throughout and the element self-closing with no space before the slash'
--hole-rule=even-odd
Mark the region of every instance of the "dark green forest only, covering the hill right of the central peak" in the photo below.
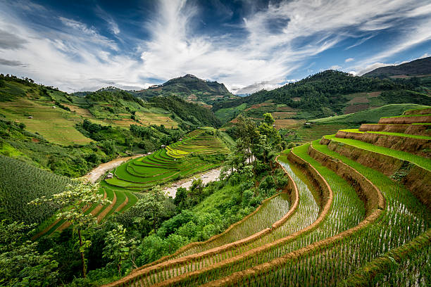
<svg viewBox="0 0 431 287">
<path fill-rule="evenodd" d="M 236 107 L 244 103 L 251 106 L 270 100 L 276 104 L 285 104 L 291 108 L 299 109 L 301 113 L 298 113 L 294 118 L 310 119 L 327 117 L 335 113 L 342 114 L 344 106 L 349 101 L 345 95 L 363 91 L 386 91 L 380 96 L 378 99 L 380 101 L 376 102 L 375 106 L 382 106 L 387 103 L 427 104 L 430 101 L 427 96 L 403 91 L 417 87 L 418 83 L 411 79 L 392 81 L 391 79 L 356 77 L 345 72 L 326 70 L 272 91 L 262 90 L 244 98 L 215 103 L 213 110 Z M 391 93 L 397 95 L 394 102 L 390 96 Z M 415 95 L 413 96 L 413 94 Z M 256 113 L 268 113 L 274 110 L 274 107 L 261 107 L 261 110 L 249 110 L 244 114 L 249 117 L 256 117 Z"/>
</svg>

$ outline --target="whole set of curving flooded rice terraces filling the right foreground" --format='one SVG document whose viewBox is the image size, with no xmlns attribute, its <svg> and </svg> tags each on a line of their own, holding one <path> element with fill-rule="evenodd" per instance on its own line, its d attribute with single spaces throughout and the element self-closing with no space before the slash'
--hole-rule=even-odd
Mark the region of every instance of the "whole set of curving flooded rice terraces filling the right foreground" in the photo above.
<svg viewBox="0 0 431 287">
<path fill-rule="evenodd" d="M 379 125 L 399 129 L 417 118 L 426 126 L 429 114 L 409 110 Z M 430 151 L 394 148 L 406 138 L 429 144 L 429 136 L 407 127 L 413 136 L 382 129 L 382 139 L 395 138 L 377 144 L 344 138 L 379 134 L 369 126 L 283 152 L 285 193 L 108 286 L 431 286 Z"/>
</svg>

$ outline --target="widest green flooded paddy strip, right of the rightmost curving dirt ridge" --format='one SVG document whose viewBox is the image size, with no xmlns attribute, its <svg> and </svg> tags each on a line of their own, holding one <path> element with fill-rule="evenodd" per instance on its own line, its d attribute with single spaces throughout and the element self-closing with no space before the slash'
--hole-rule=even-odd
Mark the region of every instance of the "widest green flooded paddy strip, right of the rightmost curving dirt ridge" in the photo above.
<svg viewBox="0 0 431 287">
<path fill-rule="evenodd" d="M 420 236 L 430 228 L 430 212 L 418 202 L 412 193 L 404 189 L 404 186 L 391 181 L 380 172 L 330 151 L 327 146 L 320 145 L 318 141 L 313 142 L 313 148 L 330 155 L 332 158 L 342 160 L 373 181 L 386 198 L 385 213 L 379 221 L 333 245 L 315 250 L 298 259 L 289 260 L 284 265 L 276 264 L 269 272 L 256 272 L 251 278 L 240 277 L 242 280 L 237 282 L 236 286 L 344 286 L 342 281 L 354 274 L 367 262 L 385 254 L 394 256 L 388 251 L 412 241 L 416 236 Z M 429 255 L 422 258 L 427 260 Z M 395 260 L 392 258 L 390 261 L 394 262 Z M 407 267 L 408 263 L 404 262 Z M 416 261 L 413 261 L 412 264 L 416 267 L 420 266 Z M 422 262 L 423 264 L 426 265 L 426 261 Z M 404 280 L 399 280 L 397 272 L 394 272 L 398 267 L 396 264 L 392 266 L 394 268 L 383 268 L 382 270 L 372 270 L 372 272 L 373 274 L 380 272 L 377 276 L 380 283 L 394 282 L 392 285 L 389 284 L 390 286 L 423 286 L 425 283 L 421 280 L 418 281 L 418 275 L 420 278 L 420 273 L 423 272 L 422 276 L 426 276 L 426 269 L 424 272 L 420 269 L 406 268 L 404 269 L 406 270 Z M 258 270 L 258 267 L 254 267 L 254 269 Z M 405 280 L 406 278 L 408 280 Z M 363 280 L 363 278 L 360 279 Z M 366 285 L 355 284 L 355 282 L 360 283 L 361 280 L 353 281 L 351 286 L 375 286 L 376 283 L 372 283 L 367 277 L 363 281 Z M 385 284 L 383 285 L 385 286 Z"/>
</svg>

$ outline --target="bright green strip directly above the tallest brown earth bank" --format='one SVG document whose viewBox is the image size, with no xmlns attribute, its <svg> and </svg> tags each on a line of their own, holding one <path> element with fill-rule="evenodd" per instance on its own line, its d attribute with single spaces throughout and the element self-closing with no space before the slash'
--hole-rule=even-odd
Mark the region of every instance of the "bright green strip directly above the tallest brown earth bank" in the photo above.
<svg viewBox="0 0 431 287">
<path fill-rule="evenodd" d="M 406 153 L 404 151 L 395 151 L 391 148 L 384 148 L 382 146 L 374 146 L 373 144 L 357 141 L 356 139 L 339 139 L 335 137 L 334 134 L 325 136 L 325 139 L 330 139 L 331 141 L 337 141 L 350 146 L 356 146 L 357 148 L 361 148 L 366 151 L 373 151 L 375 153 L 381 153 L 382 155 L 389 155 L 393 158 L 398 158 L 399 160 L 407 160 L 408 162 L 413 162 L 415 165 L 425 168 L 425 170 L 431 171 L 431 160 L 420 157 L 419 155 L 413 155 L 412 153 Z"/>
</svg>

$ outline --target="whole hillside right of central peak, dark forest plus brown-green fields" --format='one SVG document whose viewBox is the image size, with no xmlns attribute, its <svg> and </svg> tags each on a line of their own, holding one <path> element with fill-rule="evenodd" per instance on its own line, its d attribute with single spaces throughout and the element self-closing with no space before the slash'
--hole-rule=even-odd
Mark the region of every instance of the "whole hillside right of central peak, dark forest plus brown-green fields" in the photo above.
<svg viewBox="0 0 431 287">
<path fill-rule="evenodd" d="M 327 70 L 272 91 L 262 90 L 215 103 L 213 110 L 225 122 L 239 114 L 261 120 L 263 113 L 273 113 L 277 128 L 289 128 L 301 125 L 304 120 L 355 113 L 390 103 L 430 105 L 431 98 L 426 88 L 411 80 L 394 82 Z"/>
</svg>

